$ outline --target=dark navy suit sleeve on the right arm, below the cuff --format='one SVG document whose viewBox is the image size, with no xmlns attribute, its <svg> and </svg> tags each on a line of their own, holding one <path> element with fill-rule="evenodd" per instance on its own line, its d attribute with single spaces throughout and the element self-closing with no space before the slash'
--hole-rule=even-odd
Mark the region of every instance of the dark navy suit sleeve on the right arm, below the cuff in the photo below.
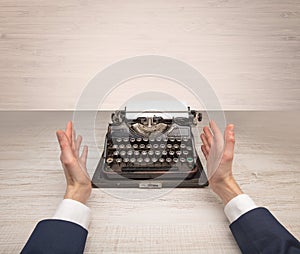
<svg viewBox="0 0 300 254">
<path fill-rule="evenodd" d="M 299 241 L 266 208 L 243 214 L 230 229 L 243 253 L 300 253 Z"/>
</svg>

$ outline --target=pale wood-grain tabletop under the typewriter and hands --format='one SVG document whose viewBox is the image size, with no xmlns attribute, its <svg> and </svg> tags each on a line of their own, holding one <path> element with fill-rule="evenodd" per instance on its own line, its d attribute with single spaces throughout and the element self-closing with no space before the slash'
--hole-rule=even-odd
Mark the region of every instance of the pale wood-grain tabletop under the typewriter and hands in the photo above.
<svg viewBox="0 0 300 254">
<path fill-rule="evenodd" d="M 236 125 L 234 174 L 242 189 L 299 239 L 299 112 L 225 113 Z M 35 224 L 51 217 L 63 197 L 55 130 L 64 128 L 72 112 L 8 111 L 0 117 L 0 253 L 17 253 Z M 91 143 L 90 175 L 99 160 L 108 117 L 101 112 L 97 147 L 84 137 L 84 143 Z M 128 195 L 143 191 L 159 194 L 122 189 Z M 92 220 L 85 253 L 240 252 L 223 205 L 209 188 L 174 189 L 141 202 L 94 189 L 88 205 Z"/>
</svg>

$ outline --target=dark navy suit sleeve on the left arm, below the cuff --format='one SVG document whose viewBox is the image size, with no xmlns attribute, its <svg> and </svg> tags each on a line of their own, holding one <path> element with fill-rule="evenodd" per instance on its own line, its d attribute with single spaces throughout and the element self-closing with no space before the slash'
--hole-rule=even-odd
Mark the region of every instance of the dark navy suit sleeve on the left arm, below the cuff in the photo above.
<svg viewBox="0 0 300 254">
<path fill-rule="evenodd" d="M 83 253 L 87 230 L 64 220 L 43 220 L 35 227 L 21 254 Z"/>
</svg>

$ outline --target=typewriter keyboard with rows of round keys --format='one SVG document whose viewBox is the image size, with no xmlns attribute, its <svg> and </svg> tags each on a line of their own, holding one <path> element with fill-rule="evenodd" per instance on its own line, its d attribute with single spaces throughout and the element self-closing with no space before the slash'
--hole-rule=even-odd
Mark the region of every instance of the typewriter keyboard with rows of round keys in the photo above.
<svg viewBox="0 0 300 254">
<path fill-rule="evenodd" d="M 118 173 L 190 172 L 196 164 L 190 138 L 113 137 L 107 140 L 108 171 Z"/>
</svg>

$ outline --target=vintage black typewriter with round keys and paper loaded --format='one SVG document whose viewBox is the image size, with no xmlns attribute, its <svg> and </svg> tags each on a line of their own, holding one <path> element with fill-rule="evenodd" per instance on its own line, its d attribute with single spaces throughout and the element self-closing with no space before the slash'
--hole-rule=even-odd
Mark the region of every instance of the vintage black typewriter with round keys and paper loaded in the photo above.
<svg viewBox="0 0 300 254">
<path fill-rule="evenodd" d="M 147 111 L 146 116 L 130 119 L 128 113 L 125 108 L 111 116 L 93 187 L 208 185 L 191 128 L 202 120 L 201 113 L 189 107 L 186 117 Z"/>
</svg>

